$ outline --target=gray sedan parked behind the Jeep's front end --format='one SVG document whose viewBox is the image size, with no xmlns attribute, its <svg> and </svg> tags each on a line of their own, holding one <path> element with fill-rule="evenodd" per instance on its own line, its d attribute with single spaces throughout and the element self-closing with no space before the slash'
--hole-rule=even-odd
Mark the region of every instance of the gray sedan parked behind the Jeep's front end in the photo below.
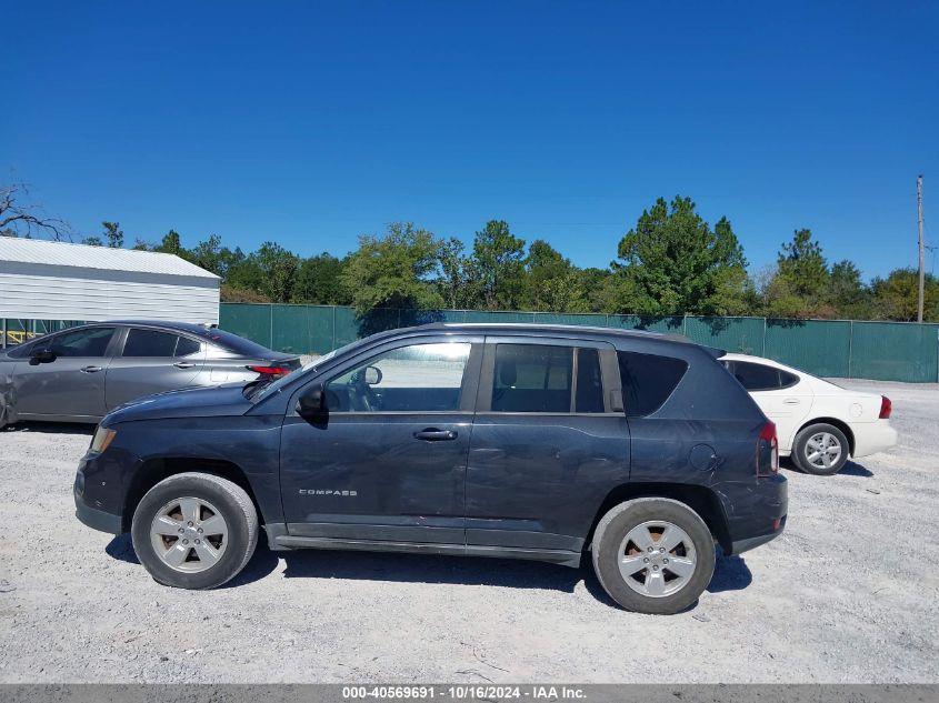
<svg viewBox="0 0 939 703">
<path fill-rule="evenodd" d="M 0 428 L 21 420 L 94 423 L 144 395 L 264 382 L 299 368 L 296 354 L 198 324 L 86 324 L 0 353 Z"/>
</svg>

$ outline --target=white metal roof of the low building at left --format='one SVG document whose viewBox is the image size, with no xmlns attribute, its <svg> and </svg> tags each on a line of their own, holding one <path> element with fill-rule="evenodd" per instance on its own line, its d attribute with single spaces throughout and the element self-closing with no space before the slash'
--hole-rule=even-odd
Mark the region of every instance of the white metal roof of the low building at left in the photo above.
<svg viewBox="0 0 939 703">
<path fill-rule="evenodd" d="M 0 270 L 2 270 L 4 261 L 103 271 L 131 271 L 134 273 L 160 273 L 206 279 L 219 278 L 176 254 L 50 242 L 41 239 L 20 239 L 17 237 L 0 237 Z"/>
</svg>

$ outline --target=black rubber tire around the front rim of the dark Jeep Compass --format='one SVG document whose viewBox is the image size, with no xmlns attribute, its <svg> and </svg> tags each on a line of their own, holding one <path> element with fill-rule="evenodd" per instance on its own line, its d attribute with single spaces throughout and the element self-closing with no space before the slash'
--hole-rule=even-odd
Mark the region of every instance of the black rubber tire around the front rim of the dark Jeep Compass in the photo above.
<svg viewBox="0 0 939 703">
<path fill-rule="evenodd" d="M 216 508 L 227 526 L 224 549 L 218 561 L 194 573 L 170 566 L 151 541 L 151 524 L 158 513 L 174 501 L 190 498 Z M 131 539 L 137 558 L 154 581 L 177 589 L 214 589 L 233 579 L 254 553 L 258 513 L 251 498 L 236 483 L 208 473 L 180 473 L 160 481 L 140 501 L 133 512 Z M 196 561 L 198 554 L 190 552 L 187 561 L 190 558 Z"/>
</svg>

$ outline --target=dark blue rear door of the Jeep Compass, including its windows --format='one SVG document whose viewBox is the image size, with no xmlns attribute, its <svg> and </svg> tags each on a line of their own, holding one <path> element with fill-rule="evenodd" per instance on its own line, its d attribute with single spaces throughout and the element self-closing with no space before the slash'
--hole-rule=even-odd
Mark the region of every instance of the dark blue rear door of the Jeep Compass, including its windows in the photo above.
<svg viewBox="0 0 939 703">
<path fill-rule="evenodd" d="M 610 344 L 488 337 L 467 468 L 467 545 L 579 553 L 592 511 L 629 478 L 619 398 Z"/>
</svg>

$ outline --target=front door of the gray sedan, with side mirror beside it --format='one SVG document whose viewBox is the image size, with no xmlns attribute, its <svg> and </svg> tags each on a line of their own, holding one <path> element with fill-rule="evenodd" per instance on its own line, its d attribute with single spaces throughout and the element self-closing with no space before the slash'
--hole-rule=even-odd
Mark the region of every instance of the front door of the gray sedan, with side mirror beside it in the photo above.
<svg viewBox="0 0 939 703">
<path fill-rule="evenodd" d="M 111 361 L 114 328 L 87 328 L 60 332 L 36 349 L 51 349 L 56 359 L 17 366 L 14 402 L 19 415 L 31 418 L 86 418 L 104 414 L 104 372 Z"/>
</svg>

